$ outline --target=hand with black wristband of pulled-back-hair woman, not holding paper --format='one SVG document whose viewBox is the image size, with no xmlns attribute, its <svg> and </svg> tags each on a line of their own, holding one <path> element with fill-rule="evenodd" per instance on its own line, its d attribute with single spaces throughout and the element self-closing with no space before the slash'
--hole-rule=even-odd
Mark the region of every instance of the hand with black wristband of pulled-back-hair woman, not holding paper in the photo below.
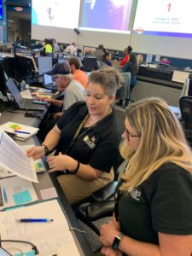
<svg viewBox="0 0 192 256">
<path fill-rule="evenodd" d="M 58 154 L 48 158 L 49 172 L 55 171 L 73 171 L 76 169 L 78 162 L 67 154 Z"/>
</svg>

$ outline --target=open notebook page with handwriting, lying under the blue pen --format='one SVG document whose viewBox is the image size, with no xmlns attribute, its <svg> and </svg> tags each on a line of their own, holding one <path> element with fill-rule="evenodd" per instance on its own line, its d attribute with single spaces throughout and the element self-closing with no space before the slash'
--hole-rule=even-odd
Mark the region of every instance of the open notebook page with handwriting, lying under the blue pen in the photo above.
<svg viewBox="0 0 192 256">
<path fill-rule="evenodd" d="M 53 222 L 49 223 L 20 223 L 20 218 L 52 218 Z M 75 254 L 67 254 L 78 256 L 78 249 L 71 231 L 69 230 L 67 219 L 61 210 L 58 201 L 46 201 L 29 207 L 23 207 L 9 212 L 1 212 L 0 214 L 0 235 L 1 239 L 15 239 L 30 241 L 36 247 L 40 255 L 49 255 L 50 251 L 56 251 L 59 247 L 71 247 Z M 3 247 L 10 248 L 9 242 L 3 242 Z M 12 243 L 11 247 L 15 251 L 9 253 L 19 253 L 16 248 L 22 252 L 28 252 L 32 247 L 26 244 Z M 45 253 L 45 254 L 44 254 Z M 15 255 L 15 254 L 14 254 Z M 60 254 L 59 254 L 60 255 Z"/>
</svg>

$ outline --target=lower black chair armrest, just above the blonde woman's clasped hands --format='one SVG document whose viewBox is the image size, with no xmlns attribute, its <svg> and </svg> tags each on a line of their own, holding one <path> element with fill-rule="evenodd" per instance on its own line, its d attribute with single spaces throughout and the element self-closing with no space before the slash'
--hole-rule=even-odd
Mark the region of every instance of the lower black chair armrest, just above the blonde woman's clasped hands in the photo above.
<svg viewBox="0 0 192 256">
<path fill-rule="evenodd" d="M 92 202 L 86 207 L 86 218 L 90 221 L 96 219 L 110 217 L 113 215 L 114 201 L 99 201 Z"/>
</svg>

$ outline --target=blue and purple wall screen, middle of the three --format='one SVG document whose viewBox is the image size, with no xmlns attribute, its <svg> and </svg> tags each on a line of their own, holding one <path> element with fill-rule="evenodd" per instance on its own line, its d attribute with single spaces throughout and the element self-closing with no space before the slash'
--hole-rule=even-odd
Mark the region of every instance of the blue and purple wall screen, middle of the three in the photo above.
<svg viewBox="0 0 192 256">
<path fill-rule="evenodd" d="M 132 0 L 84 0 L 80 28 L 129 32 Z"/>
</svg>

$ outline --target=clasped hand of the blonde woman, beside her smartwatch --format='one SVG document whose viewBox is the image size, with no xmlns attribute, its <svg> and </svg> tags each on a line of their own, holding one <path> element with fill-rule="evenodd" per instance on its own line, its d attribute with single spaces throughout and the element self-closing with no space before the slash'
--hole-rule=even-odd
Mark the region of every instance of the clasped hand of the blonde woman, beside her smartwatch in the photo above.
<svg viewBox="0 0 192 256">
<path fill-rule="evenodd" d="M 119 230 L 110 221 L 108 224 L 103 224 L 100 229 L 99 241 L 104 247 L 111 247 L 113 244 L 114 237 L 119 234 Z"/>
</svg>

